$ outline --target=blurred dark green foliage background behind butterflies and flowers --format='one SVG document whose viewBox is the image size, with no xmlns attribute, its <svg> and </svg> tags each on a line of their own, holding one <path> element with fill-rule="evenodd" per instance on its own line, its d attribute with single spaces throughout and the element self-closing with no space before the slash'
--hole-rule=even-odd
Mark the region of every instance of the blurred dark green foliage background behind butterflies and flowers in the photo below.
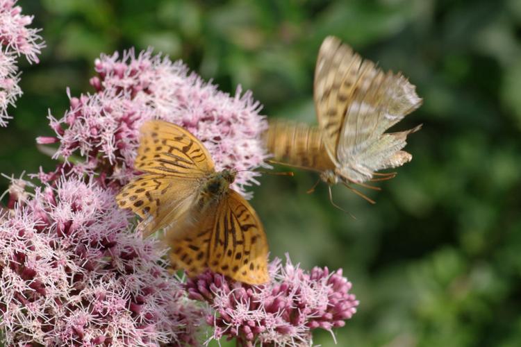
<svg viewBox="0 0 521 347">
<path fill-rule="evenodd" d="M 182 58 L 226 92 L 251 89 L 270 117 L 315 122 L 312 88 L 326 35 L 403 71 L 424 105 L 413 161 L 366 192 L 316 176 L 264 176 L 252 201 L 272 254 L 342 267 L 360 299 L 339 346 L 521 346 L 521 1 L 24 0 L 47 49 L 20 60 L 24 96 L 0 128 L 0 171 L 54 163 L 35 148 L 72 95 L 92 91 L 99 53 L 135 46 Z M 7 181 L 0 181 L 5 190 Z M 332 346 L 327 332 L 315 344 Z"/>
</svg>

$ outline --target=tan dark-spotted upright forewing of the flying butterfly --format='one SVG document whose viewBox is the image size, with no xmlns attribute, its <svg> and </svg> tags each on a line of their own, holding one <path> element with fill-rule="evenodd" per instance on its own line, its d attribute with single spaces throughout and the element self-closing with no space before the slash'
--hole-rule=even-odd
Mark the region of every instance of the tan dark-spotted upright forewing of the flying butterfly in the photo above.
<svg viewBox="0 0 521 347">
<path fill-rule="evenodd" d="M 313 97 L 326 151 L 336 162 L 345 113 L 360 74 L 362 58 L 336 37 L 326 37 L 317 58 Z"/>
</svg>

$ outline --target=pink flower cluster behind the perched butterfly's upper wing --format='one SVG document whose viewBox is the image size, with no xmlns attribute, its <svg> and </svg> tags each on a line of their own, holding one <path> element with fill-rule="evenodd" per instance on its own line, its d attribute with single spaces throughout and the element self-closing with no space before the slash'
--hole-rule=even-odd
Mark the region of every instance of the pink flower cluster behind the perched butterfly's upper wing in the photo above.
<svg viewBox="0 0 521 347">
<path fill-rule="evenodd" d="M 133 51 L 119 59 L 101 56 L 98 76 L 90 83 L 97 91 L 70 97 L 70 109 L 61 119 L 49 116 L 56 137 L 39 137 L 40 144 L 60 142 L 56 156 L 84 158 L 83 171 L 104 171 L 109 180 L 124 184 L 133 176 L 138 130 L 147 119 L 164 119 L 190 130 L 204 143 L 217 170 L 251 170 L 265 165 L 261 134 L 267 128 L 261 105 L 251 92 L 235 96 L 217 90 L 181 61 Z M 242 171 L 235 189 L 257 183 L 258 173 Z"/>
</svg>

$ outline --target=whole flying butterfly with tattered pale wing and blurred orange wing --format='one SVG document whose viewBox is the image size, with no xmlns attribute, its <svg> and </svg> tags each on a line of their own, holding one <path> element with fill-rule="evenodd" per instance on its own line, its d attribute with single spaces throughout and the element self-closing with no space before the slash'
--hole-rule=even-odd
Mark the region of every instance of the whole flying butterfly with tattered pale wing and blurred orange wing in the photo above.
<svg viewBox="0 0 521 347">
<path fill-rule="evenodd" d="M 420 107 L 415 86 L 329 36 L 318 53 L 313 97 L 318 126 L 270 120 L 265 144 L 274 155 L 272 162 L 319 172 L 329 185 L 331 203 L 331 186 L 337 183 L 374 203 L 352 185 L 379 189 L 364 183 L 392 178 L 395 173 L 377 171 L 412 159 L 402 149 L 407 135 L 421 126 L 385 131 Z"/>
</svg>

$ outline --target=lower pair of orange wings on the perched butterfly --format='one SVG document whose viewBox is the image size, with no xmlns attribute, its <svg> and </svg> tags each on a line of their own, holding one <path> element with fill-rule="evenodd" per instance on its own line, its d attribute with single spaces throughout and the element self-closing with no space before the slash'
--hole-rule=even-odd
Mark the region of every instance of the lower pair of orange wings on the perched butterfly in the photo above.
<svg viewBox="0 0 521 347">
<path fill-rule="evenodd" d="M 205 216 L 181 239 L 165 235 L 172 265 L 188 276 L 209 268 L 251 285 L 269 281 L 266 235 L 249 203 L 230 189 Z"/>
</svg>

